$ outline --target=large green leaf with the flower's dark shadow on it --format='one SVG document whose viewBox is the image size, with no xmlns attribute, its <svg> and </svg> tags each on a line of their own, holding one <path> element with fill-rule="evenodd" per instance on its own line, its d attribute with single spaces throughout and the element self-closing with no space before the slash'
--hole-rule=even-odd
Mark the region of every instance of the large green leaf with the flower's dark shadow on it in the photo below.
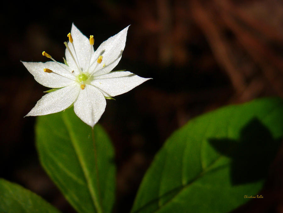
<svg viewBox="0 0 283 213">
<path fill-rule="evenodd" d="M 131 212 L 229 212 L 257 195 L 283 136 L 283 101 L 231 105 L 189 121 L 156 154 Z M 260 195 L 260 194 L 258 194 Z"/>
</svg>

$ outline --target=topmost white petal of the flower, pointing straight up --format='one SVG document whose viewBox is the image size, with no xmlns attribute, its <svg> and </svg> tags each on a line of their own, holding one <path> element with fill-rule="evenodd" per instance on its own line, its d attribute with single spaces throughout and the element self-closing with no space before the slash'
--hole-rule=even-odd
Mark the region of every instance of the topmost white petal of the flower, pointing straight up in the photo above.
<svg viewBox="0 0 283 213">
<path fill-rule="evenodd" d="M 74 40 L 73 44 L 75 46 L 75 50 L 79 60 L 78 65 L 80 68 L 82 68 L 82 71 L 85 72 L 89 64 L 90 51 L 92 51 L 92 55 L 94 53 L 93 46 L 89 44 L 89 38 L 84 36 L 74 24 L 72 25 L 71 35 Z M 73 45 L 70 42 L 68 42 L 68 46 L 71 52 L 73 53 L 75 60 L 77 60 Z M 72 69 L 75 70 L 75 74 L 78 75 L 79 71 L 68 49 L 66 49 L 65 54 L 68 65 L 72 67 Z"/>
</svg>

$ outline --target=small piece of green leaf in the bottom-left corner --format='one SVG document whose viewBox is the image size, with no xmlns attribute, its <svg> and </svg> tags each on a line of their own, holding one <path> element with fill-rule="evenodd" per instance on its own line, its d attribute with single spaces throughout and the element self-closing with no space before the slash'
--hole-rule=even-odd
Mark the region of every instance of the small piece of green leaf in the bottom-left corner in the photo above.
<svg viewBox="0 0 283 213">
<path fill-rule="evenodd" d="M 0 212 L 59 213 L 60 211 L 35 193 L 0 178 Z"/>
</svg>

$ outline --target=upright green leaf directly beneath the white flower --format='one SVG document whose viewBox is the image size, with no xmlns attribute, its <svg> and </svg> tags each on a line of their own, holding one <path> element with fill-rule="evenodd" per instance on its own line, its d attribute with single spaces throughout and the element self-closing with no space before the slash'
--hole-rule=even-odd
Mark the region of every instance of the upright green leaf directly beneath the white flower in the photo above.
<svg viewBox="0 0 283 213">
<path fill-rule="evenodd" d="M 73 108 L 39 116 L 36 144 L 42 166 L 75 210 L 111 212 L 115 192 L 114 149 L 100 125 L 92 130 L 75 115 Z"/>
</svg>

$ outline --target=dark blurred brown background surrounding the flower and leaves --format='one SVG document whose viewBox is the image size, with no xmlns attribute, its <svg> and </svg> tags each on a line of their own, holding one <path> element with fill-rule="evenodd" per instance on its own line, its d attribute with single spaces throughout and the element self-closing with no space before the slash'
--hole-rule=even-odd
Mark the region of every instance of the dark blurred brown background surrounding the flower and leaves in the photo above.
<svg viewBox="0 0 283 213">
<path fill-rule="evenodd" d="M 107 100 L 100 124 L 116 152 L 114 212 L 128 212 L 154 154 L 192 117 L 231 103 L 283 97 L 280 0 L 8 1 L 0 14 L 0 177 L 17 182 L 62 212 L 75 212 L 39 164 L 35 117 L 24 116 L 47 88 L 22 61 L 63 62 L 72 22 L 101 42 L 131 24 L 127 69 L 153 80 Z M 261 192 L 235 212 L 283 212 L 282 149 Z M 243 195 L 244 196 L 244 195 Z"/>
</svg>

